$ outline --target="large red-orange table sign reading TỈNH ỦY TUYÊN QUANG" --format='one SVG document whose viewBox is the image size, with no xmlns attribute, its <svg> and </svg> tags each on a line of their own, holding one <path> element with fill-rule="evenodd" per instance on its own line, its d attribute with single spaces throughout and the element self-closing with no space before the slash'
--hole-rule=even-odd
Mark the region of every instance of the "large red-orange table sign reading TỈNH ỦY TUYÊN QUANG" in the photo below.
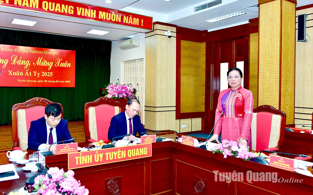
<svg viewBox="0 0 313 195">
<path fill-rule="evenodd" d="M 74 152 L 68 153 L 67 155 L 68 169 L 76 169 L 137 158 L 151 157 L 152 145 L 151 143 L 137 144 L 133 146 Z"/>
</svg>

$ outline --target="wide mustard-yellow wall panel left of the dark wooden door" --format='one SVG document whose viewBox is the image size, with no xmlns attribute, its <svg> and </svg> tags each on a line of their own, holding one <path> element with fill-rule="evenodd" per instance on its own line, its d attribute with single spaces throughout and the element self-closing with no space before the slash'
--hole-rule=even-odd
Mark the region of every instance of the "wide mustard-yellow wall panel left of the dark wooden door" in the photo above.
<svg viewBox="0 0 313 195">
<path fill-rule="evenodd" d="M 181 113 L 204 112 L 205 43 L 181 41 Z"/>
</svg>

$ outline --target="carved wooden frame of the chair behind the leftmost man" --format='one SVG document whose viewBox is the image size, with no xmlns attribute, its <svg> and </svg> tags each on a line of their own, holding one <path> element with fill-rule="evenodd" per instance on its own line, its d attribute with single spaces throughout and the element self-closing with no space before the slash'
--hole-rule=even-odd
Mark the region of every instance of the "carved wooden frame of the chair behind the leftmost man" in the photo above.
<svg viewBox="0 0 313 195">
<path fill-rule="evenodd" d="M 31 108 L 33 106 L 38 106 L 38 105 L 42 105 L 42 106 L 46 106 L 48 104 L 54 103 L 50 100 L 47 100 L 45 98 L 41 98 L 41 97 L 34 97 L 32 99 L 29 99 L 23 103 L 17 103 L 14 104 L 12 106 L 12 140 L 13 140 L 13 148 L 14 147 L 19 147 L 19 139 L 18 139 L 18 119 L 17 119 L 17 111 L 19 109 L 27 109 L 27 108 Z M 57 103 L 59 105 L 61 105 L 60 103 Z M 62 105 L 61 105 L 62 106 Z M 63 106 L 62 106 L 63 109 Z M 64 110 L 63 110 L 64 112 Z M 44 114 L 44 113 L 43 113 Z M 63 118 L 63 113 L 61 115 L 61 117 Z"/>
</svg>

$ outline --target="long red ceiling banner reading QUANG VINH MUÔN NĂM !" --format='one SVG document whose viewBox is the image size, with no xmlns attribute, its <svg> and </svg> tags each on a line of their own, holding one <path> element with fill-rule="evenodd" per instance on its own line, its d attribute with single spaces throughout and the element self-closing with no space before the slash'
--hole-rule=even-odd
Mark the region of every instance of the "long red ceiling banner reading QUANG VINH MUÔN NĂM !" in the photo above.
<svg viewBox="0 0 313 195">
<path fill-rule="evenodd" d="M 152 30 L 152 17 L 64 0 L 0 0 L 1 6 Z"/>
</svg>

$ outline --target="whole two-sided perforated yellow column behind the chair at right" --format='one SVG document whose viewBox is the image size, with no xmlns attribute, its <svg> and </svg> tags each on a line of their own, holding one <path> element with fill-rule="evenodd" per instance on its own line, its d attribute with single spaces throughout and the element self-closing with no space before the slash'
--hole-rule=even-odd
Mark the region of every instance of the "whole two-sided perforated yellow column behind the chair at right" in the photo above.
<svg viewBox="0 0 313 195">
<path fill-rule="evenodd" d="M 259 0 L 258 105 L 272 105 L 294 123 L 296 0 Z"/>
</svg>

